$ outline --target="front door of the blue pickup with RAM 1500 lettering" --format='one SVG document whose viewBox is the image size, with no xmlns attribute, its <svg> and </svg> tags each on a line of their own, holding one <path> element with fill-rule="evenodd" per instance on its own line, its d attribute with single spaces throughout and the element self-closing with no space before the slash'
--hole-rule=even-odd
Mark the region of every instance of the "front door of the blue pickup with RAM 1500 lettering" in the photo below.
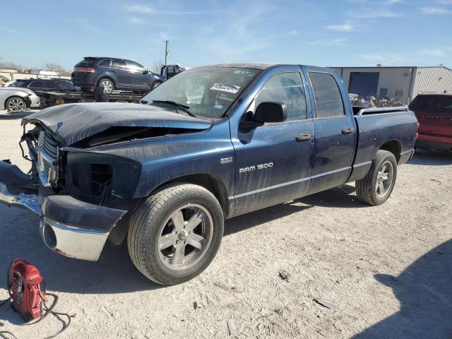
<svg viewBox="0 0 452 339">
<path fill-rule="evenodd" d="M 254 100 L 283 102 L 287 119 L 267 123 L 233 138 L 235 153 L 235 215 L 304 196 L 314 154 L 314 123 L 301 69 L 276 73 Z M 240 127 L 239 127 L 240 129 Z"/>
</svg>

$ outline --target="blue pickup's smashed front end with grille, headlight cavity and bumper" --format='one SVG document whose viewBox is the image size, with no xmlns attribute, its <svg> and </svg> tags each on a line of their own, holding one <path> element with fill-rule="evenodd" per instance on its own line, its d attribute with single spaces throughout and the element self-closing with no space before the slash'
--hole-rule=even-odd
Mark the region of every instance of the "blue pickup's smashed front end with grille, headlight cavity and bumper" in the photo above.
<svg viewBox="0 0 452 339">
<path fill-rule="evenodd" d="M 7 160 L 0 162 L 0 201 L 40 214 L 40 233 L 49 249 L 97 261 L 110 232 L 127 212 L 106 206 L 114 160 L 96 157 L 97 163 L 88 163 L 83 152 L 60 149 L 41 126 L 24 133 L 23 141 L 30 155 L 24 157 L 32 168 L 25 174 Z"/>
</svg>

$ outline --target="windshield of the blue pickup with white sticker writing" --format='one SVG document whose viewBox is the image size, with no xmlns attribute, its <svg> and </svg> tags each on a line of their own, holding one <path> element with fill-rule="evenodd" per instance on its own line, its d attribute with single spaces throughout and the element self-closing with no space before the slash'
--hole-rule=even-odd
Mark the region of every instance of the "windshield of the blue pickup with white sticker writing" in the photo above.
<svg viewBox="0 0 452 339">
<path fill-rule="evenodd" d="M 174 101 L 188 106 L 197 116 L 220 119 L 258 73 L 257 69 L 232 67 L 189 69 L 165 81 L 141 100 L 149 104 L 153 100 Z"/>
</svg>

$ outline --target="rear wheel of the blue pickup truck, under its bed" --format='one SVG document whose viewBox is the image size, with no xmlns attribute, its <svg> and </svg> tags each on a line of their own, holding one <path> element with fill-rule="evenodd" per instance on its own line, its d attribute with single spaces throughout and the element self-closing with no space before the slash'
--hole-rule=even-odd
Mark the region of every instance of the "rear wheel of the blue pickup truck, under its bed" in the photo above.
<svg viewBox="0 0 452 339">
<path fill-rule="evenodd" d="M 387 186 L 384 186 L 386 180 L 381 179 L 381 177 L 384 178 L 384 176 L 382 176 L 382 174 L 384 173 L 380 173 L 381 169 L 383 169 L 383 165 L 386 165 L 386 167 L 384 167 L 385 170 L 386 168 L 392 166 L 392 176 L 390 178 L 391 182 L 388 182 Z M 387 150 L 378 150 L 376 152 L 374 160 L 372 160 L 372 165 L 369 169 L 369 173 L 367 173 L 367 176 L 356 182 L 357 198 L 359 199 L 359 201 L 362 201 L 363 203 L 367 203 L 369 205 L 381 205 L 386 200 L 388 200 L 389 196 L 391 196 L 394 184 L 396 184 L 396 177 L 396 157 L 393 155 L 393 153 L 388 152 Z M 380 184 L 383 184 L 383 189 L 377 188 L 377 181 Z"/>
</svg>

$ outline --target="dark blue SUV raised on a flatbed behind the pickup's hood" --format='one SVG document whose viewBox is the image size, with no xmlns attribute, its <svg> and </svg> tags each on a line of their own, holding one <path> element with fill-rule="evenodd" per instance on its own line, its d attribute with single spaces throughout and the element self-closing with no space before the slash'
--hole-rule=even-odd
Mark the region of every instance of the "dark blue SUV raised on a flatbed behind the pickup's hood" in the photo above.
<svg viewBox="0 0 452 339">
<path fill-rule="evenodd" d="M 126 59 L 85 57 L 73 68 L 72 82 L 82 89 L 100 86 L 104 93 L 113 90 L 149 92 L 166 79 Z"/>
</svg>

